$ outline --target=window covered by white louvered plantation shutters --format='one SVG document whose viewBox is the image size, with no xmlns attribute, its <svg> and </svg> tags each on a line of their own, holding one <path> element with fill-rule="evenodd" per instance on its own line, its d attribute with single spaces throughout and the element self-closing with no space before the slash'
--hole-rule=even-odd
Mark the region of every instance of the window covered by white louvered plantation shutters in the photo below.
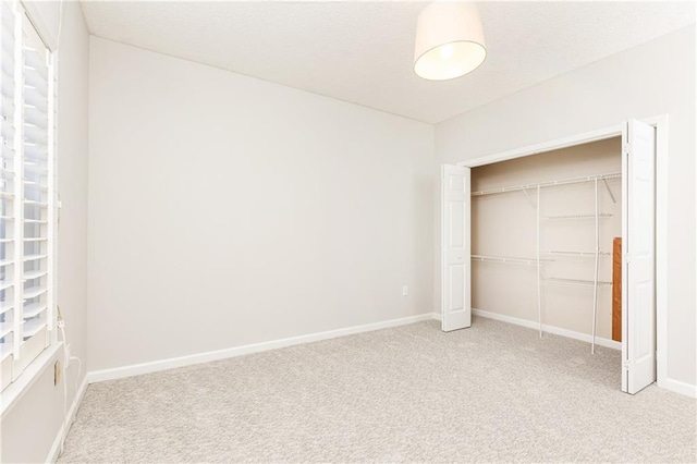
<svg viewBox="0 0 697 464">
<path fill-rule="evenodd" d="M 19 1 L 0 8 L 0 391 L 56 341 L 53 56 Z"/>
</svg>

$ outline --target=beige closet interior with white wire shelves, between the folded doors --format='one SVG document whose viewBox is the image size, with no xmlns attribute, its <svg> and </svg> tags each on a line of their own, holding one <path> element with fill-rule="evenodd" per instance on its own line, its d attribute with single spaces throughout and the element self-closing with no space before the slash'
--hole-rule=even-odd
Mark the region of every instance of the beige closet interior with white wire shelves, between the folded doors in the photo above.
<svg viewBox="0 0 697 464">
<path fill-rule="evenodd" d="M 612 264 L 622 235 L 621 154 L 613 137 L 473 168 L 475 310 L 534 322 L 540 335 L 550 327 L 575 332 L 591 351 L 620 346 Z M 615 320 L 617 310 L 615 303 Z"/>
</svg>

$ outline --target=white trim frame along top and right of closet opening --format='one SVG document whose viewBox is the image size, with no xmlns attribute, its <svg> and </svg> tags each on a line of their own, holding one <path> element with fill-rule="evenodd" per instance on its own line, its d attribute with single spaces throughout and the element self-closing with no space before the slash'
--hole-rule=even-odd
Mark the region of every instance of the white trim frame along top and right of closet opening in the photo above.
<svg viewBox="0 0 697 464">
<path fill-rule="evenodd" d="M 656 127 L 656 379 L 659 387 L 668 388 L 668 114 L 644 118 L 639 121 Z M 619 137 L 622 136 L 623 130 L 624 121 L 597 131 L 584 132 L 457 162 L 456 166 L 476 168 L 499 161 L 539 155 L 590 142 Z"/>
</svg>

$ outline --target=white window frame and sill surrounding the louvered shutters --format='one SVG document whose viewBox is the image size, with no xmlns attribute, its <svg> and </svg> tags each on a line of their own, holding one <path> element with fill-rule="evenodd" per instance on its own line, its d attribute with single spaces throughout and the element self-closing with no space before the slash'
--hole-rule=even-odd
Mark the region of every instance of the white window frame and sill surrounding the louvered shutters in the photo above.
<svg viewBox="0 0 697 464">
<path fill-rule="evenodd" d="M 12 88 L 14 91 L 13 95 L 13 105 L 14 105 L 14 134 L 13 134 L 13 148 L 15 150 L 13 157 L 13 191 L 15 193 L 15 198 L 13 200 L 12 211 L 15 218 L 14 225 L 9 225 L 8 221 L 5 221 L 5 229 L 12 228 L 14 230 L 13 234 L 9 240 L 11 242 L 7 242 L 7 244 L 12 244 L 13 254 L 12 260 L 14 261 L 13 266 L 13 294 L 12 300 L 15 302 L 13 307 L 7 312 L 7 314 L 12 315 L 12 354 L 0 358 L 0 363 L 2 363 L 2 373 L 0 375 L 7 375 L 7 364 L 5 359 L 9 357 L 10 361 L 10 374 L 11 378 L 8 382 L 7 379 L 2 379 L 0 382 L 0 413 L 4 415 L 11 406 L 21 398 L 24 392 L 33 384 L 36 379 L 40 376 L 41 373 L 46 369 L 46 367 L 50 364 L 50 362 L 54 358 L 56 353 L 61 346 L 62 342 L 58 341 L 58 331 L 57 329 L 57 232 L 58 232 L 58 195 L 57 195 L 57 103 L 58 103 L 58 85 L 57 85 L 57 68 L 58 68 L 58 51 L 54 50 L 53 47 L 50 47 L 45 40 L 46 34 L 42 34 L 41 26 L 46 28 L 46 23 L 42 21 L 36 21 L 37 11 L 35 8 L 25 8 L 20 0 L 1 0 L 2 8 L 8 8 L 12 12 L 12 20 L 14 22 L 14 36 L 13 36 L 13 81 Z M 29 11 L 32 10 L 32 11 Z M 38 27 L 37 27 L 38 25 Z M 27 32 L 27 28 L 32 28 L 33 30 Z M 38 241 L 35 241 L 35 244 L 42 243 L 41 239 L 46 236 L 45 245 L 38 245 L 40 247 L 41 255 L 46 255 L 45 258 L 45 269 L 44 266 L 40 268 L 35 268 L 33 270 L 41 270 L 46 271 L 46 274 L 42 278 L 45 279 L 45 288 L 46 288 L 46 312 L 45 315 L 45 329 L 41 327 L 39 332 L 35 335 L 30 335 L 27 340 L 24 340 L 24 328 L 25 328 L 25 318 L 24 318 L 24 307 L 27 305 L 26 300 L 24 298 L 24 285 L 27 279 L 25 279 L 25 274 L 27 270 L 25 269 L 26 261 L 24 260 L 24 252 L 27 242 L 24 240 L 24 232 L 26 230 L 26 223 L 23 221 L 25 216 L 25 208 L 27 199 L 27 179 L 24 174 L 24 167 L 27 162 L 27 155 L 24 151 L 24 148 L 27 146 L 27 141 L 25 139 L 24 129 L 26 124 L 30 124 L 30 118 L 25 114 L 25 87 L 27 87 L 28 80 L 25 80 L 25 76 L 29 73 L 25 70 L 27 65 L 25 63 L 25 56 L 29 53 L 25 50 L 25 32 L 29 35 L 35 35 L 34 40 L 38 39 L 40 45 L 44 47 L 38 49 L 41 54 L 45 52 L 46 57 L 46 96 L 41 95 L 41 103 L 46 105 L 46 132 L 40 131 L 40 136 L 46 136 L 46 161 L 45 161 L 45 171 L 39 171 L 37 174 L 39 178 L 45 179 L 46 185 L 44 185 L 44 181 L 39 181 L 39 186 L 37 188 L 38 192 L 46 188 L 45 197 L 39 196 L 41 198 L 39 203 L 46 203 L 46 206 L 37 206 L 37 211 L 39 215 L 39 219 L 44 219 L 45 215 L 45 230 L 40 230 L 44 225 L 34 225 L 35 230 L 40 230 L 40 232 L 35 232 L 38 235 L 34 235 L 35 237 L 39 237 Z M 27 40 L 28 42 L 28 40 Z M 38 42 L 37 42 L 38 44 Z M 29 70 L 30 71 L 30 70 Z M 37 90 L 38 91 L 38 90 Z M 34 94 L 39 95 L 40 93 Z M 42 129 L 42 127 L 40 127 Z M 4 159 L 4 157 L 3 157 Z M 3 168 L 5 166 L 3 164 Z M 45 172 L 45 175 L 44 173 Z M 36 184 L 34 185 L 36 187 Z M 38 195 L 42 195 L 38 193 Z M 45 198 L 45 199 L 44 199 Z M 19 231 L 19 234 L 17 234 Z M 5 237 L 7 232 L 5 232 Z M 7 246 L 7 245 L 5 245 Z M 7 248 L 5 248 L 7 253 Z M 41 260 L 38 260 L 39 262 Z M 34 266 L 33 266 L 34 268 Z M 37 279 L 37 278 L 35 278 Z M 29 279 L 30 280 L 30 279 Z M 36 281 L 40 282 L 40 280 Z M 34 283 L 34 285 L 41 286 L 40 283 Z M 19 291 L 17 289 L 21 289 Z M 8 298 L 5 293 L 5 298 Z M 17 305 L 16 303 L 20 302 Z M 40 313 L 39 313 L 40 314 Z M 28 319 L 27 319 L 28 320 Z M 42 347 L 36 347 L 35 353 L 24 353 L 23 356 L 22 347 L 26 346 L 26 341 L 32 341 L 34 337 L 38 337 L 45 332 L 45 341 L 42 343 Z M 33 344 L 41 344 L 40 337 L 37 340 L 33 341 Z M 16 355 L 20 356 L 16 356 Z M 19 357 L 19 359 L 17 359 Z M 5 384 L 7 383 L 7 384 Z"/>
</svg>

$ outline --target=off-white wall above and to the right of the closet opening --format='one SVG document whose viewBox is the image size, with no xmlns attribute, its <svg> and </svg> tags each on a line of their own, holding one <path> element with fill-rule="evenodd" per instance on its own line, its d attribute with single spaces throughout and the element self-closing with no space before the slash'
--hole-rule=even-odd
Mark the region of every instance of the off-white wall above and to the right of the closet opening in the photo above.
<svg viewBox="0 0 697 464">
<path fill-rule="evenodd" d="M 438 124 L 437 163 L 465 161 L 662 113 L 670 118 L 668 377 L 671 388 L 694 392 L 694 25 Z M 440 248 L 438 242 L 436 248 Z M 437 262 L 436 288 L 439 269 Z"/>
</svg>

